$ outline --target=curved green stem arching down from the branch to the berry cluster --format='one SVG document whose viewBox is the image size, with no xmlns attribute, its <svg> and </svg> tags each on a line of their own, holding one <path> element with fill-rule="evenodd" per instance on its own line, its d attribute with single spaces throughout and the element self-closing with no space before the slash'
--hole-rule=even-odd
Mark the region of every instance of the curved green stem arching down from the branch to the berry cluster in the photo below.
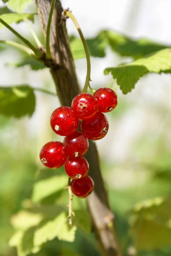
<svg viewBox="0 0 171 256">
<path fill-rule="evenodd" d="M 83 93 L 87 93 L 89 82 L 91 81 L 91 79 L 90 79 L 90 73 L 91 73 L 90 53 L 89 53 L 89 50 L 88 50 L 87 43 L 85 41 L 84 35 L 83 35 L 83 33 L 81 31 L 81 28 L 80 28 L 80 26 L 78 24 L 78 21 L 75 19 L 74 15 L 72 15 L 71 12 L 67 11 L 67 12 L 64 12 L 64 14 L 72 19 L 73 23 L 75 24 L 75 26 L 76 26 L 76 28 L 78 30 L 78 33 L 80 35 L 81 41 L 82 41 L 83 46 L 84 46 L 84 51 L 85 51 L 86 59 L 87 59 L 87 75 L 86 75 L 86 81 L 85 81 L 84 88 L 83 88 L 82 92 Z"/>
</svg>

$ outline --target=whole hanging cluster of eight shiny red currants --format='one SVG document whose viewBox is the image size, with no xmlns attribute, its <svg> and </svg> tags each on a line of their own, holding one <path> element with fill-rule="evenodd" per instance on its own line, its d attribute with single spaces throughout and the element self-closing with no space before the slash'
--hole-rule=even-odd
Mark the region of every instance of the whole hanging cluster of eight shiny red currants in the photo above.
<svg viewBox="0 0 171 256">
<path fill-rule="evenodd" d="M 113 90 L 99 88 L 93 95 L 78 94 L 71 108 L 57 108 L 50 117 L 52 130 L 66 137 L 63 143 L 46 143 L 40 151 L 41 162 L 51 169 L 64 164 L 66 174 L 72 179 L 72 193 L 79 198 L 87 197 L 94 188 L 93 180 L 87 176 L 89 164 L 83 157 L 89 147 L 87 138 L 100 140 L 107 134 L 109 122 L 103 113 L 112 111 L 117 103 L 117 95 Z M 82 120 L 82 132 L 77 131 L 79 119 Z"/>
</svg>

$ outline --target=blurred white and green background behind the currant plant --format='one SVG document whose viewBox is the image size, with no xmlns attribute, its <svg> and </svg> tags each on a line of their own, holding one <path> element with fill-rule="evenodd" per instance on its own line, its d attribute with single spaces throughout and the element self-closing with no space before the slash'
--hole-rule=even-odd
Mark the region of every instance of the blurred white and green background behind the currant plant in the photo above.
<svg viewBox="0 0 171 256">
<path fill-rule="evenodd" d="M 72 9 L 85 38 L 95 37 L 101 29 L 112 29 L 135 39 L 143 37 L 171 45 L 170 0 L 62 0 L 62 5 Z M 26 11 L 32 10 L 35 10 L 34 4 Z M 12 26 L 22 35 L 31 38 L 25 23 Z M 32 27 L 42 38 L 37 17 Z M 78 36 L 71 20 L 67 20 L 67 29 L 69 35 Z M 14 36 L 4 28 L 0 31 L 0 39 L 14 40 Z M 20 58 L 22 56 L 10 47 L 0 53 L 0 85 L 29 84 L 55 92 L 48 69 L 33 71 L 29 66 L 13 67 L 12 63 Z M 112 78 L 110 75 L 104 76 L 104 68 L 128 60 L 110 49 L 107 49 L 104 58 L 92 57 L 91 86 L 94 89 L 108 86 Z M 80 86 L 83 87 L 85 58 L 76 60 L 75 66 Z M 147 75 L 127 95 L 123 95 L 116 84 L 113 88 L 116 89 L 119 103 L 115 111 L 107 114 L 110 122 L 107 136 L 96 144 L 110 205 L 116 214 L 119 238 L 124 248 L 129 247 L 129 252 L 125 250 L 131 255 L 133 248 L 130 247 L 132 242 L 128 231 L 128 211 L 139 201 L 171 196 L 171 75 Z M 36 110 L 30 119 L 0 116 L 0 256 L 15 255 L 15 250 L 8 246 L 13 233 L 10 218 L 32 193 L 36 172 L 38 166 L 41 166 L 40 148 L 47 141 L 61 140 L 49 125 L 49 116 L 58 106 L 56 97 L 36 92 Z M 78 242 L 74 244 L 61 242 L 60 246 L 65 250 L 69 246 L 83 256 L 99 255 L 93 238 L 87 238 L 87 241 L 80 237 L 77 239 Z M 91 253 L 82 250 L 81 243 L 85 245 L 91 240 Z M 49 242 L 38 255 L 59 255 L 55 251 L 55 243 L 58 244 L 58 241 Z M 171 250 L 167 247 L 151 252 L 143 251 L 137 255 L 169 256 Z"/>
</svg>

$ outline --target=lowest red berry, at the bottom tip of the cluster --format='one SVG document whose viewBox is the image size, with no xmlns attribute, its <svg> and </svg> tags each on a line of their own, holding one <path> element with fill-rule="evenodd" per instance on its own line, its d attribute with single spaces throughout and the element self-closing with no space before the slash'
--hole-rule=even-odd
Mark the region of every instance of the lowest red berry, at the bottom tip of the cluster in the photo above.
<svg viewBox="0 0 171 256">
<path fill-rule="evenodd" d="M 89 176 L 85 176 L 79 180 L 72 180 L 72 193 L 79 198 L 87 197 L 94 189 L 94 182 Z"/>
</svg>

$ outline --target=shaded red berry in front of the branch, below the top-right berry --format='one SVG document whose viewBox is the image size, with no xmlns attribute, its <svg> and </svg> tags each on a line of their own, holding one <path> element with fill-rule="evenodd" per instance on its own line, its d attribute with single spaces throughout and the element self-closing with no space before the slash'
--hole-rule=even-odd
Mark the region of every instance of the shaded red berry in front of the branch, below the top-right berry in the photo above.
<svg viewBox="0 0 171 256">
<path fill-rule="evenodd" d="M 109 130 L 109 122 L 103 113 L 97 112 L 88 120 L 82 120 L 81 131 L 90 140 L 102 139 Z"/>
</svg>

